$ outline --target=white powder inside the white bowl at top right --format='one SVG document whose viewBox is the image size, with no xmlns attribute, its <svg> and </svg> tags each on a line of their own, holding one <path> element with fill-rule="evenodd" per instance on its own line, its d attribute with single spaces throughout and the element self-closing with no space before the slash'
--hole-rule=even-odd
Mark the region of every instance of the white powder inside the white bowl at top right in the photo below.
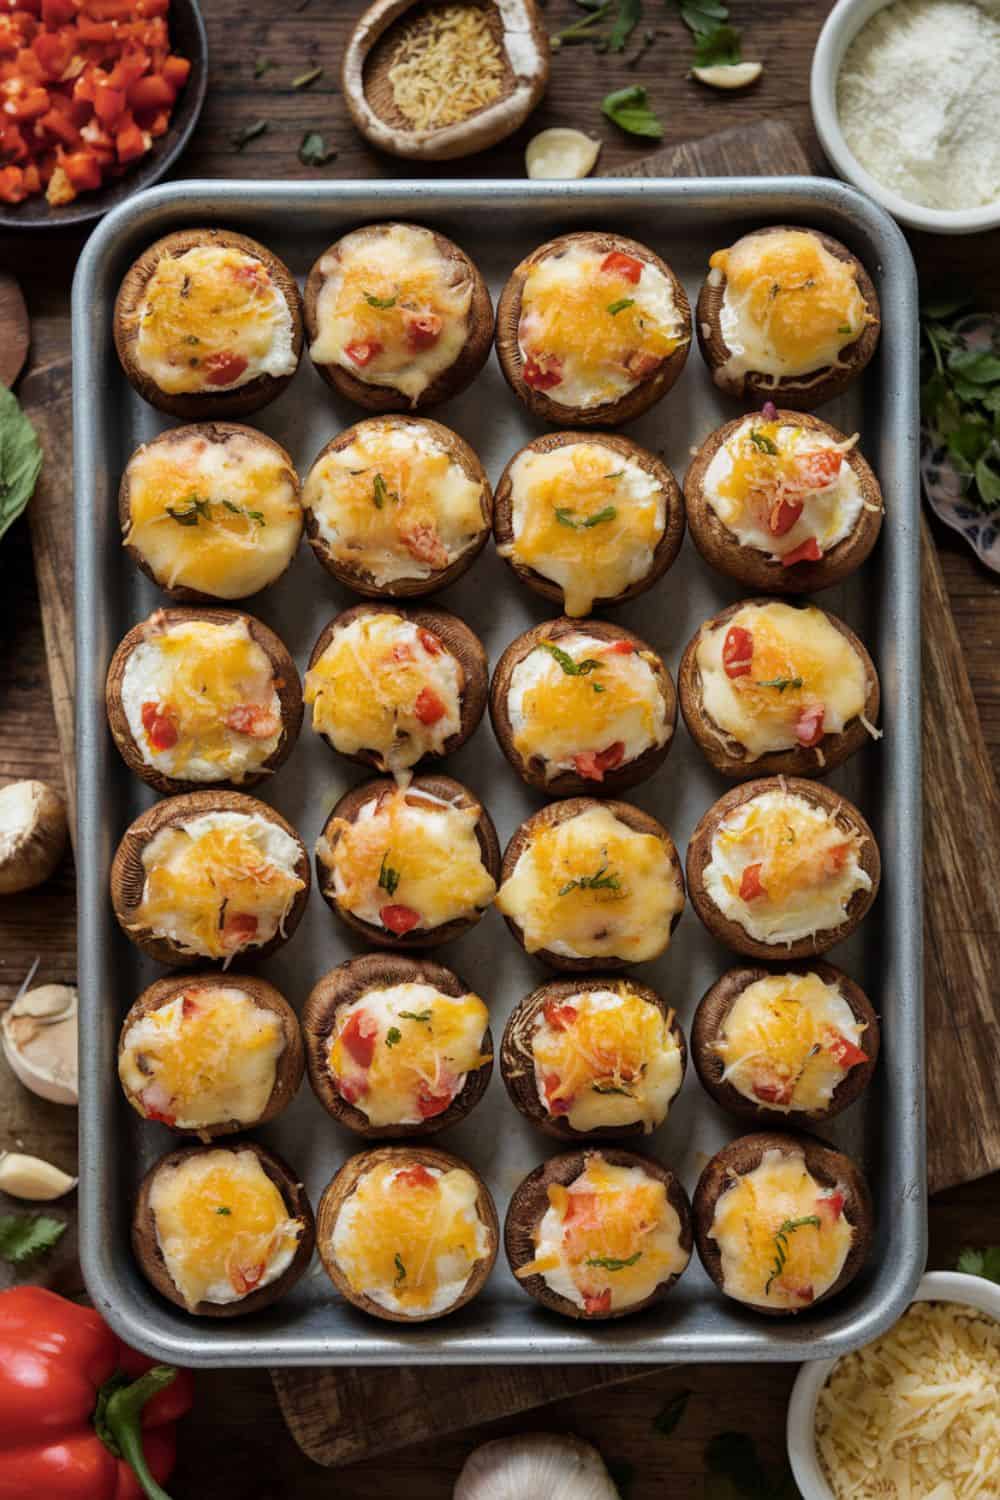
<svg viewBox="0 0 1000 1500">
<path fill-rule="evenodd" d="M 861 165 L 909 202 L 1000 198 L 1000 4 L 895 0 L 861 28 L 837 81 Z"/>
</svg>

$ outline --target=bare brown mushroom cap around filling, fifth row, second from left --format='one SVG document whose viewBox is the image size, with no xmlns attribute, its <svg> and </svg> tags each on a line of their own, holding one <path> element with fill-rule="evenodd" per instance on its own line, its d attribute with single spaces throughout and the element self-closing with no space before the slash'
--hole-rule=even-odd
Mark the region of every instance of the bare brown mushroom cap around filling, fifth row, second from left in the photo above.
<svg viewBox="0 0 1000 1500">
<path fill-rule="evenodd" d="M 336 1120 L 355 1131 L 358 1136 L 372 1136 L 382 1140 L 397 1140 L 403 1137 L 433 1136 L 438 1131 L 457 1125 L 459 1120 L 475 1108 L 493 1072 L 493 1036 L 489 1026 L 483 1032 L 481 1052 L 490 1054 L 490 1062 L 483 1064 L 474 1072 L 466 1074 L 465 1084 L 454 1096 L 447 1110 L 430 1119 L 414 1125 L 372 1125 L 364 1110 L 349 1104 L 330 1072 L 330 1038 L 336 1024 L 337 1011 L 345 1005 L 352 1005 L 363 999 L 370 990 L 391 988 L 397 984 L 430 984 L 441 994 L 460 999 L 472 993 L 451 969 L 432 963 L 429 958 L 411 958 L 406 954 L 369 952 L 357 958 L 348 958 L 337 964 L 318 981 L 303 1010 L 303 1035 L 306 1040 L 306 1059 L 309 1065 L 309 1082 L 313 1094 Z"/>
</svg>

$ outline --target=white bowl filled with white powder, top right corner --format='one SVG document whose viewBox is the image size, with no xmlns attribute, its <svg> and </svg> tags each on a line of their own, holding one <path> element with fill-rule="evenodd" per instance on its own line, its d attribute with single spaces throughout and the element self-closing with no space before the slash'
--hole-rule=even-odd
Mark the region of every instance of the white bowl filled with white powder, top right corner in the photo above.
<svg viewBox="0 0 1000 1500">
<path fill-rule="evenodd" d="M 810 100 L 837 174 L 900 224 L 1000 226 L 1000 0 L 840 0 Z"/>
</svg>

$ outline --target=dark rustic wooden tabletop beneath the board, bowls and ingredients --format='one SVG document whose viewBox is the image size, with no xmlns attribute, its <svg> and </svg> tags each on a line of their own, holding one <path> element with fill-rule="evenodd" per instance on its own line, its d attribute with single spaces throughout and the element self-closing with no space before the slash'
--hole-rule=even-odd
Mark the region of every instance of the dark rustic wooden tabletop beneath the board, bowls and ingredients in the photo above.
<svg viewBox="0 0 1000 1500">
<path fill-rule="evenodd" d="M 322 0 L 205 0 L 211 48 L 211 87 L 195 141 L 181 162 L 186 177 L 397 177 L 414 176 L 375 152 L 355 135 L 337 88 L 337 58 L 360 3 L 322 4 Z M 601 168 L 624 165 L 645 147 L 624 138 L 601 118 L 600 99 L 625 82 L 643 82 L 666 122 L 667 142 L 708 135 L 727 126 L 753 123 L 765 116 L 790 123 L 817 170 L 823 170 L 808 114 L 808 68 L 829 0 L 769 0 L 751 6 L 732 0 L 744 50 L 765 62 L 762 81 L 747 94 L 727 98 L 685 78 L 690 57 L 687 33 L 673 6 L 646 0 L 646 21 L 657 40 L 637 68 L 625 58 L 598 56 L 589 46 L 562 50 L 553 63 L 549 94 L 513 141 L 465 164 L 435 166 L 439 176 L 483 174 L 520 177 L 528 135 L 546 124 L 576 124 L 604 140 Z M 547 0 L 552 30 L 580 15 L 574 0 Z M 258 81 L 255 60 L 273 66 Z M 291 78 L 313 68 L 325 69 L 310 88 L 292 92 Z M 243 152 L 232 136 L 255 120 L 268 129 Z M 297 147 L 307 129 L 324 134 L 337 156 L 325 168 L 300 165 Z M 69 284 L 81 237 L 58 234 L 0 236 L 0 267 L 21 280 L 33 320 L 30 369 L 39 370 L 66 357 L 69 350 Z M 927 285 L 958 276 L 984 302 L 1000 303 L 1000 234 L 957 240 L 913 237 L 921 276 Z M 69 434 L 67 434 L 69 440 Z M 70 496 L 66 495 L 66 526 Z M 985 738 L 1000 774 L 1000 584 L 964 546 L 939 528 L 936 540 L 948 580 L 952 609 L 967 656 Z M 0 782 L 40 776 L 61 782 L 52 720 L 40 615 L 31 570 L 25 522 L 0 546 Z M 73 872 L 67 860 L 40 891 L 6 898 L 0 904 L 0 1000 L 16 990 L 34 956 L 42 956 L 40 978 L 75 975 Z M 933 1044 L 933 1038 L 931 1038 Z M 3 1092 L 4 1130 L 0 1146 L 24 1142 L 72 1170 L 75 1118 L 45 1106 L 22 1089 Z M 967 1244 L 1000 1242 L 1000 1180 L 942 1194 L 931 1204 L 931 1266 L 954 1264 Z M 39 1272 L 58 1290 L 76 1290 L 72 1236 Z M 631 1468 L 631 1500 L 664 1492 L 676 1500 L 703 1490 L 706 1437 L 724 1430 L 753 1432 L 765 1456 L 777 1461 L 784 1448 L 784 1407 L 795 1371 L 769 1366 L 766 1377 L 747 1368 L 693 1366 L 661 1372 L 619 1386 L 613 1392 L 577 1396 L 547 1407 L 514 1426 L 546 1426 L 597 1437 L 606 1456 Z M 654 1418 L 670 1395 L 693 1390 L 679 1430 L 658 1437 Z M 507 1424 L 510 1426 L 511 1424 Z M 499 1428 L 502 1431 L 502 1425 Z M 496 1430 L 490 1430 L 490 1436 Z M 171 1484 L 177 1500 L 271 1500 L 295 1494 L 340 1492 L 352 1500 L 406 1494 L 409 1500 L 442 1500 L 465 1454 L 486 1434 L 469 1431 L 433 1444 L 411 1448 L 333 1476 L 313 1467 L 294 1446 L 277 1412 L 267 1372 L 217 1372 L 199 1377 L 195 1414 L 184 1425 L 181 1458 Z M 525 1497 L 529 1500 L 529 1497 Z"/>
</svg>

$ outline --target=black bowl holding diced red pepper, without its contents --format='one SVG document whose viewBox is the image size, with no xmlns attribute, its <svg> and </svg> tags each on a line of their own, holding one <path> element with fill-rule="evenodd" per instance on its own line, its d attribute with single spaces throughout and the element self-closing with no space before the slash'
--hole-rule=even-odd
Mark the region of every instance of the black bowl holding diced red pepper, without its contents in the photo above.
<svg viewBox="0 0 1000 1500">
<path fill-rule="evenodd" d="M 3 230 L 58 230 L 73 224 L 91 224 L 109 208 L 117 207 L 141 188 L 150 188 L 177 160 L 187 146 L 190 132 L 198 123 L 208 86 L 208 39 L 205 22 L 196 0 L 171 0 L 169 8 L 171 50 L 190 60 L 187 82 L 177 96 L 169 129 L 153 141 L 151 152 L 130 166 L 124 176 L 114 177 L 96 192 L 81 192 L 72 202 L 52 207 L 43 194 L 24 202 L 0 206 L 0 228 Z"/>
</svg>

